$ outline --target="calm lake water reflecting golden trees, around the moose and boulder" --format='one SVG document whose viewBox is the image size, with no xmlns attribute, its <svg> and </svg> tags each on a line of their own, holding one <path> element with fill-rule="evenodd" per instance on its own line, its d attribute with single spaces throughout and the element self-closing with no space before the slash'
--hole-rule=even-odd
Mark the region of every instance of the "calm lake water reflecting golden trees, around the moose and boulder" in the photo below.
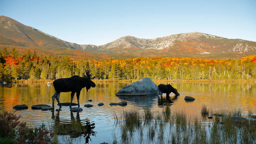
<svg viewBox="0 0 256 144">
<path fill-rule="evenodd" d="M 149 108 L 152 111 L 161 111 L 165 106 L 166 98 L 159 99 L 157 96 L 148 97 L 116 97 L 115 93 L 127 84 L 96 84 L 86 92 L 82 89 L 80 94 L 80 113 L 72 113 L 68 106 L 62 106 L 60 112 L 31 110 L 32 105 L 52 104 L 54 94 L 53 85 L 11 85 L 11 88 L 0 86 L 0 110 L 14 112 L 13 106 L 26 104 L 29 108 L 23 111 L 16 111 L 21 121 L 28 125 L 47 124 L 53 126 L 55 123 L 69 124 L 71 119 L 81 120 L 83 125 L 88 126 L 89 133 L 73 136 L 73 143 L 102 143 L 110 142 L 113 133 L 113 112 L 122 113 L 123 110 L 137 109 L 143 111 Z M 158 84 L 157 84 L 158 85 Z M 188 116 L 200 116 L 201 106 L 207 105 L 213 111 L 219 110 L 241 110 L 246 115 L 248 110 L 256 114 L 256 83 L 251 84 L 221 84 L 221 83 L 171 83 L 178 89 L 179 97 L 171 93 L 171 110 L 185 111 Z M 60 102 L 70 102 L 71 92 L 61 93 Z M 184 97 L 194 97 L 194 102 L 185 102 Z M 87 100 L 93 100 L 89 102 Z M 127 106 L 110 106 L 111 102 L 127 101 Z M 76 96 L 73 100 L 77 103 Z M 98 106 L 98 103 L 104 103 Z M 93 104 L 93 107 L 84 107 L 85 104 Z M 55 109 L 58 109 L 55 100 Z M 207 120 L 206 120 L 207 121 Z M 209 121 L 209 120 L 208 120 Z M 77 137 L 77 138 L 76 138 Z M 63 139 L 62 139 L 63 138 Z M 65 142 L 65 134 L 59 137 Z"/>
</svg>

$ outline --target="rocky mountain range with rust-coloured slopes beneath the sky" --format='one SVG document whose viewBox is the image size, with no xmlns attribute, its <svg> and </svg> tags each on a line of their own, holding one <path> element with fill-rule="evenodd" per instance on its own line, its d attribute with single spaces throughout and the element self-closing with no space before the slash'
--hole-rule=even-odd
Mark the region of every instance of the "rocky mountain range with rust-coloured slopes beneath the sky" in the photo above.
<svg viewBox="0 0 256 144">
<path fill-rule="evenodd" d="M 96 59 L 139 56 L 229 59 L 256 55 L 256 42 L 227 39 L 200 32 L 173 34 L 155 39 L 126 36 L 99 46 L 80 45 L 63 41 L 6 16 L 0 16 L 0 47 L 15 47 L 19 51 L 30 48 L 40 54 L 68 54 L 73 58 Z"/>
</svg>

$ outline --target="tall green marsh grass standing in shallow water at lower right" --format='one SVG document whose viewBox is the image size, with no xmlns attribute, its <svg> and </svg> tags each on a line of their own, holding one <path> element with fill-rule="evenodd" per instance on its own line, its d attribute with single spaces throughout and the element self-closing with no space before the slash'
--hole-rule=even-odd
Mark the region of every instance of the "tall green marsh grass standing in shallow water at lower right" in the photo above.
<svg viewBox="0 0 256 144">
<path fill-rule="evenodd" d="M 213 112 L 206 109 L 208 115 L 213 116 Z M 219 115 L 209 120 L 200 115 L 187 117 L 185 111 L 171 112 L 168 104 L 158 113 L 150 109 L 144 109 L 142 114 L 137 110 L 124 111 L 120 116 L 115 114 L 115 119 L 119 121 L 116 125 L 120 130 L 119 143 L 256 143 L 256 122 L 234 119 L 234 116 L 242 116 L 239 109 L 215 113 Z"/>
</svg>

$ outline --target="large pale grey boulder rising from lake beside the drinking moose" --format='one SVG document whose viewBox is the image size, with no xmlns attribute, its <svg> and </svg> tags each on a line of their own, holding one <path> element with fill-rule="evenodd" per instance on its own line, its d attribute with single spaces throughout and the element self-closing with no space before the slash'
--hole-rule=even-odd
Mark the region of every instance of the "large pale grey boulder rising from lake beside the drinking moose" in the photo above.
<svg viewBox="0 0 256 144">
<path fill-rule="evenodd" d="M 150 78 L 142 78 L 141 80 L 131 83 L 121 88 L 116 96 L 149 96 L 157 95 L 157 86 Z"/>
</svg>

